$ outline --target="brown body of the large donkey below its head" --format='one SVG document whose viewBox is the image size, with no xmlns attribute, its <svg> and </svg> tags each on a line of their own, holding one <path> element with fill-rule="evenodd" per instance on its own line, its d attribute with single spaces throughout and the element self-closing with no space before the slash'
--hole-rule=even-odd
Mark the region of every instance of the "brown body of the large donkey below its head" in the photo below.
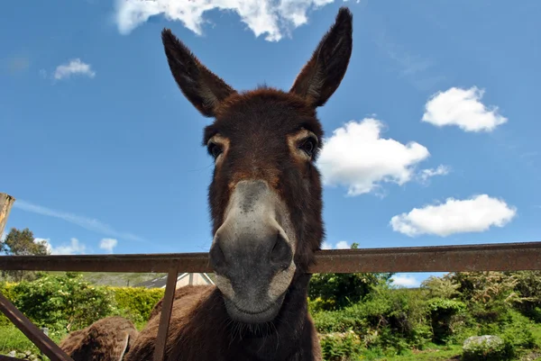
<svg viewBox="0 0 541 361">
<path fill-rule="evenodd" d="M 291 290 L 291 300 L 284 301 L 280 320 L 260 326 L 232 322 L 215 286 L 198 286 L 192 292 L 173 303 L 166 360 L 322 359 L 316 329 L 306 309 L 306 290 Z M 160 317 L 149 320 L 124 357 L 126 361 L 151 360 L 159 322 Z"/>
</svg>

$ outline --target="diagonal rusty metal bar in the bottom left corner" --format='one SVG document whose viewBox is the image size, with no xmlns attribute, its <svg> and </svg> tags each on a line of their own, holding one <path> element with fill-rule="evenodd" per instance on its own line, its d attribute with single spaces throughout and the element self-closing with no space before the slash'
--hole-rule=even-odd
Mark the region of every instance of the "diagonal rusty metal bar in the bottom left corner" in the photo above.
<svg viewBox="0 0 541 361">
<path fill-rule="evenodd" d="M 11 320 L 15 327 L 20 329 L 51 361 L 73 361 L 41 329 L 38 329 L 31 320 L 28 320 L 23 315 L 23 312 L 17 310 L 13 303 L 9 302 L 2 293 L 0 293 L 0 311 L 4 312 L 5 317 Z"/>
</svg>

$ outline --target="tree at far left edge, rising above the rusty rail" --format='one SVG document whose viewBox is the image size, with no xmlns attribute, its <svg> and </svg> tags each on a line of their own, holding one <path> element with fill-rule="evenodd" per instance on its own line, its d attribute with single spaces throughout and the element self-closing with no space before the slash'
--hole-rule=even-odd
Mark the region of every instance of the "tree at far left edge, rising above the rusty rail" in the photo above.
<svg viewBox="0 0 541 361">
<path fill-rule="evenodd" d="M 34 239 L 32 230 L 12 228 L 4 242 L 0 242 L 0 252 L 4 252 L 8 256 L 43 256 L 49 255 L 50 249 L 45 241 Z M 2 275 L 12 277 L 15 282 L 21 282 L 23 279 L 34 279 L 38 274 L 32 271 L 14 270 L 2 271 Z"/>
</svg>

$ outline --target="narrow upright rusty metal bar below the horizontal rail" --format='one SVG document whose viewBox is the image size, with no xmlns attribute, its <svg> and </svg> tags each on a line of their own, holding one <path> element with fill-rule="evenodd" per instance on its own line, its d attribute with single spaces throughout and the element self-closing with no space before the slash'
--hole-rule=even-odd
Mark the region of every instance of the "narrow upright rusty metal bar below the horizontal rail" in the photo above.
<svg viewBox="0 0 541 361">
<path fill-rule="evenodd" d="M 171 312 L 173 311 L 173 301 L 175 300 L 175 291 L 177 290 L 177 277 L 179 276 L 179 267 L 172 266 L 167 275 L 167 284 L 163 303 L 160 311 L 160 327 L 158 329 L 158 338 L 156 338 L 156 348 L 154 349 L 154 361 L 163 361 L 165 356 L 165 346 L 167 344 L 167 334 L 169 332 Z"/>
</svg>

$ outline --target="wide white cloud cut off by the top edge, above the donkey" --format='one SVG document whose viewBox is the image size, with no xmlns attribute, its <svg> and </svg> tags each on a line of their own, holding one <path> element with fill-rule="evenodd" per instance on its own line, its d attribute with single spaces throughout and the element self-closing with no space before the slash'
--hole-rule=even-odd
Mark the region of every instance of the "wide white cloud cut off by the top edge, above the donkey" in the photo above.
<svg viewBox="0 0 541 361">
<path fill-rule="evenodd" d="M 202 35 L 202 25 L 209 23 L 205 12 L 220 10 L 234 13 L 248 28 L 266 41 L 280 41 L 284 33 L 307 23 L 307 11 L 332 4 L 335 0 L 116 0 L 115 23 L 118 31 L 128 34 L 153 15 L 162 14 L 179 21 L 190 31 Z"/>
</svg>

